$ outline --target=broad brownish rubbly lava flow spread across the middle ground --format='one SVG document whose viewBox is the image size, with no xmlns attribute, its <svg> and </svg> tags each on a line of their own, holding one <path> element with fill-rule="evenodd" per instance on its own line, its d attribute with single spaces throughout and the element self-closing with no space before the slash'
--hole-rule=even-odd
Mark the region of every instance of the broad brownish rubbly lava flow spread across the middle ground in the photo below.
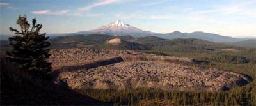
<svg viewBox="0 0 256 106">
<path fill-rule="evenodd" d="M 214 68 L 202 69 L 163 61 L 173 59 L 189 62 L 191 59 L 188 58 L 163 57 L 127 50 L 67 49 L 56 50 L 53 54 L 51 61 L 60 71 L 58 79 L 65 80 L 72 89 L 157 88 L 179 91 L 227 91 L 249 82 L 246 76 L 239 73 L 224 72 Z M 86 58 L 86 56 L 90 57 Z M 147 61 L 142 61 L 141 56 Z M 90 63 L 90 61 L 99 60 L 101 63 L 102 60 L 107 60 L 107 62 L 117 60 L 117 62 L 110 61 L 111 64 L 104 64 L 104 66 Z M 81 63 L 90 63 L 91 66 L 84 65 L 83 67 Z M 65 66 L 71 68 L 63 68 Z"/>
</svg>

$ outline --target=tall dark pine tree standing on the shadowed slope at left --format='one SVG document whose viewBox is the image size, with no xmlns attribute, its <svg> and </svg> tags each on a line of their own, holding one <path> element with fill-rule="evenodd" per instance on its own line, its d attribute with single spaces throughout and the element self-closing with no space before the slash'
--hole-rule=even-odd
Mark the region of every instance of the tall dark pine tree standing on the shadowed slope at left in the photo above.
<svg viewBox="0 0 256 106">
<path fill-rule="evenodd" d="M 13 49 L 6 52 L 8 59 L 17 64 L 20 70 L 39 75 L 40 77 L 49 76 L 52 67 L 48 61 L 50 42 L 47 40 L 46 33 L 40 34 L 42 24 L 37 24 L 36 19 L 32 20 L 32 26 L 27 21 L 26 15 L 19 16 L 17 25 L 20 31 L 10 27 L 10 31 L 14 32 L 15 36 L 9 38 L 10 45 Z"/>
</svg>

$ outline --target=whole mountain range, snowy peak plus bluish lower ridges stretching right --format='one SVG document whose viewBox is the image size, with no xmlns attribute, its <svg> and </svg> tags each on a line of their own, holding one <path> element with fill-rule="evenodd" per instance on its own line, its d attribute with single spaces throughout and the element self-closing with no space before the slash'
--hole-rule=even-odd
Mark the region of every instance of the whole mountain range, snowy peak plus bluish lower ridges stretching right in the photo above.
<svg viewBox="0 0 256 106">
<path fill-rule="evenodd" d="M 248 40 L 246 38 L 232 38 L 229 36 L 221 36 L 213 33 L 204 33 L 201 31 L 196 31 L 193 33 L 181 33 L 179 31 L 174 31 L 172 33 L 152 33 L 150 31 L 143 31 L 136 27 L 132 27 L 129 24 L 125 24 L 120 20 L 116 20 L 106 26 L 99 27 L 90 31 L 80 31 L 77 33 L 71 33 L 67 35 L 89 35 L 89 34 L 108 34 L 112 36 L 125 36 L 130 35 L 133 37 L 145 37 L 145 36 L 157 36 L 165 39 L 174 38 L 198 38 L 202 40 L 209 40 L 212 42 L 237 42 L 241 40 Z"/>
</svg>

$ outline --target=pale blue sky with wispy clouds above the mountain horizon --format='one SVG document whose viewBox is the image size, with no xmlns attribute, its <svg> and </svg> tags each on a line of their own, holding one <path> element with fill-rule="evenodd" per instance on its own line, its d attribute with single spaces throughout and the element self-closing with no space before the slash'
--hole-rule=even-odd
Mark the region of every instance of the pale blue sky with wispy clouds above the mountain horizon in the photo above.
<svg viewBox="0 0 256 106">
<path fill-rule="evenodd" d="M 0 0 L 0 34 L 12 34 L 19 15 L 42 32 L 88 31 L 122 20 L 154 33 L 204 31 L 256 37 L 256 0 Z"/>
</svg>

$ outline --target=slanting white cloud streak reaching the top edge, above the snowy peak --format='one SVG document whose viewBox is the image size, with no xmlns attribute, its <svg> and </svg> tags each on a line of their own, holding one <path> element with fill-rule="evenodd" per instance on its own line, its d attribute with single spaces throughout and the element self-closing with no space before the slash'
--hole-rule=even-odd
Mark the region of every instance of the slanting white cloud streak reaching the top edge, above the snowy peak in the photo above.
<svg viewBox="0 0 256 106">
<path fill-rule="evenodd" d="M 105 6 L 105 5 L 108 5 L 108 4 L 113 4 L 113 3 L 116 3 L 118 1 L 121 1 L 121 0 L 102 0 L 102 1 L 99 1 L 99 2 L 96 2 L 96 3 L 93 3 L 93 4 L 90 4 L 88 6 L 85 6 L 83 8 L 79 8 L 78 10 L 81 10 L 81 11 L 88 11 L 88 10 L 91 10 L 92 8 L 95 8 L 97 6 Z"/>
</svg>

